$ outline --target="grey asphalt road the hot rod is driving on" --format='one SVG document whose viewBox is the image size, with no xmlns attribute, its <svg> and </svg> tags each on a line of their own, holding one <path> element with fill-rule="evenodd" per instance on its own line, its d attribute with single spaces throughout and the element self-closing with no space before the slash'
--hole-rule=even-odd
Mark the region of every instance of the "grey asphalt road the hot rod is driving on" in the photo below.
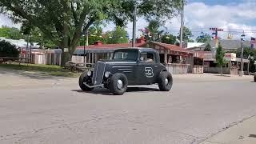
<svg viewBox="0 0 256 144">
<path fill-rule="evenodd" d="M 27 86 L 0 85 L 1 144 L 198 143 L 256 114 L 252 78 L 174 76 L 170 92 L 151 86 L 114 96 L 82 92 L 76 78 L 0 73 L 0 83 L 8 77 Z"/>
</svg>

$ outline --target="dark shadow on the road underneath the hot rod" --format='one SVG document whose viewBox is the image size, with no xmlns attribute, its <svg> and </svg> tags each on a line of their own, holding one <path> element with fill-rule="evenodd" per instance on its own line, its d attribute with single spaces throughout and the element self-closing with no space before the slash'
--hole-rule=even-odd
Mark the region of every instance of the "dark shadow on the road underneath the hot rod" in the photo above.
<svg viewBox="0 0 256 144">
<path fill-rule="evenodd" d="M 114 95 L 110 93 L 110 90 L 105 88 L 95 88 L 92 91 L 83 91 L 83 90 L 71 90 L 78 93 L 85 93 L 85 94 L 102 94 L 102 95 Z M 143 91 L 159 91 L 155 88 L 148 88 L 148 87 L 128 87 L 126 93 L 130 92 L 143 92 Z"/>
</svg>

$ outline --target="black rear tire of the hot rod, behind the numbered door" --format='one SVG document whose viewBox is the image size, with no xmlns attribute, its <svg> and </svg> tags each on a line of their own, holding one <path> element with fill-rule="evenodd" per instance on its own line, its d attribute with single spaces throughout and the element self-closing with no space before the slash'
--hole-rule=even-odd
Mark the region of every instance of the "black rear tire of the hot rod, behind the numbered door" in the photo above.
<svg viewBox="0 0 256 144">
<path fill-rule="evenodd" d="M 166 79 L 168 83 L 166 84 Z M 162 71 L 158 78 L 158 87 L 161 91 L 169 91 L 173 86 L 173 77 L 168 71 Z"/>
</svg>

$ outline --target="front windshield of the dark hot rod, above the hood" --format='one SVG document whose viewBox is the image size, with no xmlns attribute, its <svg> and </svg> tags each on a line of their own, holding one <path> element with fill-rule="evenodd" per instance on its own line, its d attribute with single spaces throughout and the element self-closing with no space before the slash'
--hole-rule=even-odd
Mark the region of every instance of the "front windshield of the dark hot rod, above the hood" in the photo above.
<svg viewBox="0 0 256 144">
<path fill-rule="evenodd" d="M 118 50 L 114 52 L 114 60 L 136 61 L 138 52 L 136 50 Z"/>
</svg>

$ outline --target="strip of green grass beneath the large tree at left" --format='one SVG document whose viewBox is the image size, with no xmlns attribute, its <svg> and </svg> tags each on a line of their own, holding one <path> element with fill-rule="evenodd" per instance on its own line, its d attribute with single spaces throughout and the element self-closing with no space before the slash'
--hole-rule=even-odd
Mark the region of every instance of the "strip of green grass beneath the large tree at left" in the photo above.
<svg viewBox="0 0 256 144">
<path fill-rule="evenodd" d="M 71 72 L 70 70 L 64 70 L 61 66 L 51 65 L 35 65 L 35 64 L 0 64 L 0 68 L 6 68 L 10 70 L 26 70 L 32 72 L 38 72 L 39 74 L 48 74 L 52 76 L 62 77 L 78 77 L 78 73 Z"/>
</svg>

